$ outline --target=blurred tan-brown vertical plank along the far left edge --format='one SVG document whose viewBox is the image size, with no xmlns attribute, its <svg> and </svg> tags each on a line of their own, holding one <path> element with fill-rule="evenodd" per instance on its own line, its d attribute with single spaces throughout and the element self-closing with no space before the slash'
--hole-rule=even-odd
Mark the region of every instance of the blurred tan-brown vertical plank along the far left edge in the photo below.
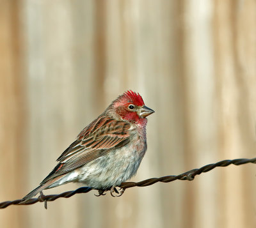
<svg viewBox="0 0 256 228">
<path fill-rule="evenodd" d="M 26 101 L 20 59 L 19 1 L 0 1 L 0 201 L 19 199 L 26 176 Z M 0 213 L 0 227 L 23 225 L 19 207 Z"/>
</svg>

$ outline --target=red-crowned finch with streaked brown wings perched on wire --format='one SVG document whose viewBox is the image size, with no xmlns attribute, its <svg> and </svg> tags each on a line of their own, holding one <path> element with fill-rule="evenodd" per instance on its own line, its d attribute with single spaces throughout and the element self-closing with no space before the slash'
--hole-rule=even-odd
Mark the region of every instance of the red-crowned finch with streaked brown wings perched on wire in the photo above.
<svg viewBox="0 0 256 228">
<path fill-rule="evenodd" d="M 112 196 L 114 192 L 122 195 L 124 189 L 118 192 L 116 186 L 138 171 L 147 151 L 147 116 L 152 113 L 139 93 L 125 91 L 77 135 L 57 159 L 56 167 L 21 202 L 70 182 L 83 183 L 99 195 L 108 190 Z"/>
</svg>

